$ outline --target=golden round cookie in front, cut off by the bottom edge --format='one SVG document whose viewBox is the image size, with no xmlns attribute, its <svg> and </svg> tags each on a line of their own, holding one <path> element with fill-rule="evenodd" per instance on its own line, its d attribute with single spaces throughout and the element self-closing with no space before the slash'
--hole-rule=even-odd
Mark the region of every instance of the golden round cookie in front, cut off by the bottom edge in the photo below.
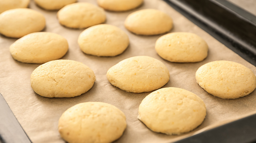
<svg viewBox="0 0 256 143">
<path fill-rule="evenodd" d="M 102 102 L 76 104 L 60 117 L 58 130 L 70 143 L 110 143 L 126 128 L 124 113 L 114 105 Z"/>
</svg>

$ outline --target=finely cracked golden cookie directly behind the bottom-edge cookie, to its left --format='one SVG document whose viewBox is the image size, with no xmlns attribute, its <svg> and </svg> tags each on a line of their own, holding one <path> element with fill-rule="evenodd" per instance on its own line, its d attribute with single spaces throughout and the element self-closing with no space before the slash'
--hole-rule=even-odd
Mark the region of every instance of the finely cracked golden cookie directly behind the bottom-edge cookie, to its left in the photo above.
<svg viewBox="0 0 256 143">
<path fill-rule="evenodd" d="M 94 72 L 73 60 L 53 60 L 37 67 L 31 74 L 31 87 L 44 97 L 75 97 L 94 85 Z"/>
</svg>

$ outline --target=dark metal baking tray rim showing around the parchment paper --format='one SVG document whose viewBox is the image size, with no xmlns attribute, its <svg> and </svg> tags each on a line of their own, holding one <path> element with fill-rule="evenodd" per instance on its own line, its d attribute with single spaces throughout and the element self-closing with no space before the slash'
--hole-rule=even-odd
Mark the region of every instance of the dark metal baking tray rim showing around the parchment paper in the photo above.
<svg viewBox="0 0 256 143">
<path fill-rule="evenodd" d="M 254 15 L 226 0 L 163 1 L 256 66 L 256 17 Z M 30 143 L 31 140 L 1 94 L 0 111 L 0 143 Z M 256 114 L 204 131 L 176 143 L 205 142 L 256 142 Z"/>
</svg>

